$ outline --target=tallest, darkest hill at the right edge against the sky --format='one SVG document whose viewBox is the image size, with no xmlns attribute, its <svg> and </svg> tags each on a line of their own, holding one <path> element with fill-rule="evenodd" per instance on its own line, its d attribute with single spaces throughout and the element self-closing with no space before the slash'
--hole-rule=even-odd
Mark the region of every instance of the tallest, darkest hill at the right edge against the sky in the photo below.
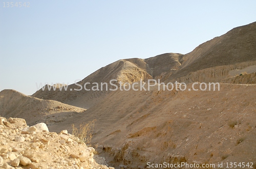
<svg viewBox="0 0 256 169">
<path fill-rule="evenodd" d="M 166 75 L 165 81 L 220 81 L 230 70 L 255 65 L 256 22 L 207 41 L 184 57 L 180 70 Z"/>
</svg>

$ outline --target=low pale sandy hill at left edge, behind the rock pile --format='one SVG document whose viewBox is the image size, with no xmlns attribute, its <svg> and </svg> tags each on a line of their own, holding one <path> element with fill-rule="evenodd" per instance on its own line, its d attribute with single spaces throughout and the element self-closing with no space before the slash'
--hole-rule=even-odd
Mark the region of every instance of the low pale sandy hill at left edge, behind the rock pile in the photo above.
<svg viewBox="0 0 256 169">
<path fill-rule="evenodd" d="M 0 92 L 0 116 L 24 118 L 29 125 L 45 122 L 48 125 L 64 121 L 86 109 L 55 100 L 42 100 L 14 90 Z"/>
</svg>

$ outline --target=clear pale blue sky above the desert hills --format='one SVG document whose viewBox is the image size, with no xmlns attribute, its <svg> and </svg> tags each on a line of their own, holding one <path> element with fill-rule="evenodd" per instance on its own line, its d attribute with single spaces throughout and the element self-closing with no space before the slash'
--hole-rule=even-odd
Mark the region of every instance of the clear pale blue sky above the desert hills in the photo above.
<svg viewBox="0 0 256 169">
<path fill-rule="evenodd" d="M 186 54 L 256 21 L 255 0 L 11 2 L 0 0 L 0 91 L 26 95 L 120 59 Z"/>
</svg>

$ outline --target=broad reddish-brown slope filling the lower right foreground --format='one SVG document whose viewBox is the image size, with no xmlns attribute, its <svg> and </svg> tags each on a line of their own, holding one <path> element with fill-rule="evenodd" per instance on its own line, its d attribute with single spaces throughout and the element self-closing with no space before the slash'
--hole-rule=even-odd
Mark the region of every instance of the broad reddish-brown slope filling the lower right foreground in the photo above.
<svg viewBox="0 0 256 169">
<path fill-rule="evenodd" d="M 221 83 L 220 91 L 158 91 L 157 86 L 115 91 L 50 130 L 96 119 L 92 143 L 117 168 L 144 168 L 147 161 L 255 163 L 255 87 Z"/>
</svg>

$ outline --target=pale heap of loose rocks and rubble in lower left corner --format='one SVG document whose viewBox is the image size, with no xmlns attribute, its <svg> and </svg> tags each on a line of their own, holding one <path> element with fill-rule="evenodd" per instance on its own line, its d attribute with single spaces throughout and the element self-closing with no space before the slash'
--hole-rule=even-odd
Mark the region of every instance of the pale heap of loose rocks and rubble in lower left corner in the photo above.
<svg viewBox="0 0 256 169">
<path fill-rule="evenodd" d="M 44 123 L 0 117 L 0 168 L 113 168 L 67 130 L 49 132 Z"/>
</svg>

